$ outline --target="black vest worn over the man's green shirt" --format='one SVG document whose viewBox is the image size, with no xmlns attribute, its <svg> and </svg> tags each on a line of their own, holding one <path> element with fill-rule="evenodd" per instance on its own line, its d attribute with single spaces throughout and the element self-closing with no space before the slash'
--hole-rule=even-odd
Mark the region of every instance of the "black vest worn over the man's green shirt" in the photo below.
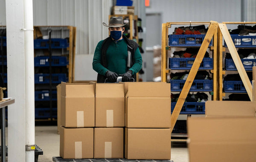
<svg viewBox="0 0 256 162">
<path fill-rule="evenodd" d="M 132 65 L 134 65 L 134 54 L 136 49 L 139 47 L 139 45 L 134 42 L 133 40 L 129 40 L 127 37 L 125 37 L 124 35 L 122 35 L 123 39 L 125 40 L 125 42 L 127 43 L 127 52 L 128 52 L 128 65 L 127 65 L 127 69 L 132 67 Z M 114 41 L 111 39 L 111 37 L 106 38 L 103 43 L 102 43 L 102 59 L 101 59 L 101 64 L 107 68 L 107 49 L 109 44 L 111 43 L 111 41 Z M 132 78 L 134 78 L 134 81 L 136 82 L 136 74 L 132 75 Z M 105 82 L 106 77 L 104 75 L 101 75 L 98 73 L 97 76 L 97 82 Z"/>
</svg>

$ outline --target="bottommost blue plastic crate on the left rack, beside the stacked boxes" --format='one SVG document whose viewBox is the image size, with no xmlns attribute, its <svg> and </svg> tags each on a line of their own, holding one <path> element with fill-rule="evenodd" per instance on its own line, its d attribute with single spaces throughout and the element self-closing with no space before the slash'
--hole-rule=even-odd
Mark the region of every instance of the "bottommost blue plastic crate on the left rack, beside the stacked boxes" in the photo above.
<svg viewBox="0 0 256 162">
<path fill-rule="evenodd" d="M 50 113 L 50 108 L 35 108 L 35 119 L 48 119 Z M 57 118 L 57 108 L 52 108 L 52 118 Z"/>
</svg>

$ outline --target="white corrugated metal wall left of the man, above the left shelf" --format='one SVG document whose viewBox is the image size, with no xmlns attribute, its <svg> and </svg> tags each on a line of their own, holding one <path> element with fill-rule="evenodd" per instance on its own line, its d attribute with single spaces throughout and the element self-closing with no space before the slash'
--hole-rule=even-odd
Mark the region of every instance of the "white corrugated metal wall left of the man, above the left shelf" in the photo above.
<svg viewBox="0 0 256 162">
<path fill-rule="evenodd" d="M 111 0 L 34 0 L 35 26 L 76 26 L 76 54 L 93 54 L 108 37 Z"/>
</svg>

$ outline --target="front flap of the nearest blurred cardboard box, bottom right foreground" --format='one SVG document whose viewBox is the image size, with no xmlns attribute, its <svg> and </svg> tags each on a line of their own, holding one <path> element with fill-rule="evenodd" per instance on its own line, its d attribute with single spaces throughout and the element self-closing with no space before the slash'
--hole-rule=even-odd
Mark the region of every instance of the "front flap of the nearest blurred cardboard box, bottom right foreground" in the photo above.
<svg viewBox="0 0 256 162">
<path fill-rule="evenodd" d="M 256 142 L 255 118 L 203 118 L 187 120 L 190 142 Z"/>
</svg>

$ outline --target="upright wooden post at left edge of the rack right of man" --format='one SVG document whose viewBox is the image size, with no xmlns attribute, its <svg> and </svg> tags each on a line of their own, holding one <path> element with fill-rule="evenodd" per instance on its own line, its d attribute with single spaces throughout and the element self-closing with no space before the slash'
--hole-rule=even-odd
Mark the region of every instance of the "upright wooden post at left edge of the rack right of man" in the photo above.
<svg viewBox="0 0 256 162">
<path fill-rule="evenodd" d="M 161 61 L 161 81 L 166 82 L 167 74 L 166 74 L 166 61 L 167 61 L 167 50 L 166 50 L 166 34 L 167 27 L 166 23 L 162 24 L 162 61 Z"/>
</svg>

